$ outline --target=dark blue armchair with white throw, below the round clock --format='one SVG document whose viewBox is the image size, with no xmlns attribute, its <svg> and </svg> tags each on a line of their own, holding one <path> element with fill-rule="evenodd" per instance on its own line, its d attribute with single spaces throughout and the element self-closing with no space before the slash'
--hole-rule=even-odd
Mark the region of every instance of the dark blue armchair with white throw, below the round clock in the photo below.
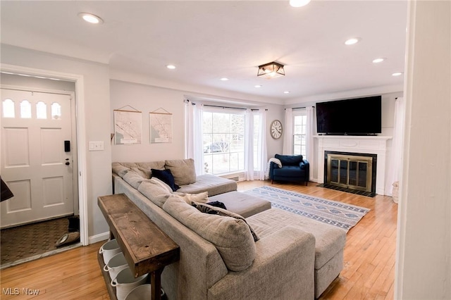
<svg viewBox="0 0 451 300">
<path fill-rule="evenodd" d="M 271 183 L 274 180 L 278 181 L 290 181 L 290 182 L 305 182 L 305 185 L 309 182 L 310 164 L 306 159 L 302 159 L 302 155 L 279 155 L 276 154 L 274 158 L 277 158 L 282 167 L 279 167 L 277 163 L 271 161 L 269 165 L 269 178 Z"/>
</svg>

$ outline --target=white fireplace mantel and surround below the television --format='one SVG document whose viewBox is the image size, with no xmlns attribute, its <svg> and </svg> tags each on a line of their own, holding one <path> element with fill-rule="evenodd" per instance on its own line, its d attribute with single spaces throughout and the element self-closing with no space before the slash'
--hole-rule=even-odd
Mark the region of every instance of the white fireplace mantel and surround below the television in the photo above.
<svg viewBox="0 0 451 300">
<path fill-rule="evenodd" d="M 324 151 L 340 151 L 359 154 L 376 154 L 376 194 L 385 195 L 385 161 L 387 141 L 392 137 L 315 135 L 318 139 L 318 180 L 324 183 Z"/>
</svg>

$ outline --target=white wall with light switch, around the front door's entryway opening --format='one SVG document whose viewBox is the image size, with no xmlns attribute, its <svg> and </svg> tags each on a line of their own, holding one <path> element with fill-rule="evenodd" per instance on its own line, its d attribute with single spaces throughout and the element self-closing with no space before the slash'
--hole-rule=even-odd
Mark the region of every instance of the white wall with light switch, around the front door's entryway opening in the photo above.
<svg viewBox="0 0 451 300">
<path fill-rule="evenodd" d="M 85 120 L 84 142 L 87 145 L 89 141 L 104 141 L 105 144 L 104 151 L 85 149 L 88 235 L 94 237 L 107 232 L 108 225 L 97 206 L 97 196 L 111 194 L 112 186 L 108 66 L 4 44 L 1 45 L 1 63 L 82 76 L 85 111 L 78 118 Z"/>
</svg>

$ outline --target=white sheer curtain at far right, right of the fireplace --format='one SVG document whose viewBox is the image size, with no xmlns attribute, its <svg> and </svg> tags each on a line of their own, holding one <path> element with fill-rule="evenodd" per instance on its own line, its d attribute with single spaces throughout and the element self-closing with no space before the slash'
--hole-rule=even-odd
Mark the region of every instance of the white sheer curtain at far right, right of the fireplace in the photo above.
<svg viewBox="0 0 451 300">
<path fill-rule="evenodd" d="M 400 181 L 402 168 L 402 140 L 404 138 L 404 99 L 395 102 L 395 125 L 393 127 L 392 149 L 390 151 L 391 170 L 385 179 L 385 194 L 392 194 L 393 183 Z M 394 199 L 396 202 L 396 199 Z"/>
</svg>

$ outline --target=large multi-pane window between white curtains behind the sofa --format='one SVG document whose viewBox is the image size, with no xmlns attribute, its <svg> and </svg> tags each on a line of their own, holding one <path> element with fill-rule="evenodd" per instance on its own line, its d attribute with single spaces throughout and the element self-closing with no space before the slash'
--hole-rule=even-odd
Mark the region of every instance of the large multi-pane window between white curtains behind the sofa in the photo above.
<svg viewBox="0 0 451 300">
<path fill-rule="evenodd" d="M 204 172 L 224 174 L 245 169 L 245 114 L 204 110 Z"/>
</svg>

